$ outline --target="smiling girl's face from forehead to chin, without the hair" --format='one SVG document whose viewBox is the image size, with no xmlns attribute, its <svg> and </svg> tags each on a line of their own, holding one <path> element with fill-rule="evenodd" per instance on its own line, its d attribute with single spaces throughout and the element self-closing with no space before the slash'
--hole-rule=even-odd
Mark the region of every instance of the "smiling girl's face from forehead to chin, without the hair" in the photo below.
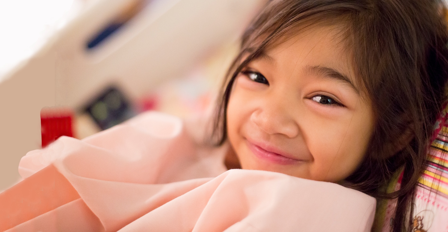
<svg viewBox="0 0 448 232">
<path fill-rule="evenodd" d="M 306 29 L 241 72 L 227 109 L 243 169 L 337 182 L 362 162 L 374 116 L 333 27 Z"/>
</svg>

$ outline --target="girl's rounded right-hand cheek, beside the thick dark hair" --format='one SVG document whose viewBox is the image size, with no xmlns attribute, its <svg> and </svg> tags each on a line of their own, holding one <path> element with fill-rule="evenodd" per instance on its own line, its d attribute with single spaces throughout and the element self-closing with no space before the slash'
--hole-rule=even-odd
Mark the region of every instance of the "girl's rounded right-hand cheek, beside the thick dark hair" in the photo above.
<svg viewBox="0 0 448 232">
<path fill-rule="evenodd" d="M 352 174 L 365 157 L 370 136 L 372 119 L 366 114 L 353 114 L 340 122 L 328 120 L 309 125 L 314 133 L 309 134 L 309 148 L 314 156 L 316 179 L 337 182 Z M 319 124 L 325 124 L 320 127 Z"/>
</svg>

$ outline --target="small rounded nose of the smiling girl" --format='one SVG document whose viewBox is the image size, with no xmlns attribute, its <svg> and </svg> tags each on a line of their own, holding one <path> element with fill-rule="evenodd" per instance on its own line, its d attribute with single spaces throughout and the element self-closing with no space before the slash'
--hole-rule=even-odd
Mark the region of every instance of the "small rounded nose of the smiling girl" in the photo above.
<svg viewBox="0 0 448 232">
<path fill-rule="evenodd" d="M 295 138 L 300 133 L 299 125 L 293 110 L 290 107 L 284 107 L 282 103 L 269 99 L 260 104 L 252 112 L 250 120 L 254 122 L 262 131 L 273 135 L 282 134 L 288 138 Z"/>
</svg>

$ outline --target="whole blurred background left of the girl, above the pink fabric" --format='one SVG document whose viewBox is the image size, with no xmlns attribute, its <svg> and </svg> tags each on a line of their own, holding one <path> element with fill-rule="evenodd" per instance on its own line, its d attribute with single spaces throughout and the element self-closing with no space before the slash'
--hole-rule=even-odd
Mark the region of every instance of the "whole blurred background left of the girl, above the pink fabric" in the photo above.
<svg viewBox="0 0 448 232">
<path fill-rule="evenodd" d="M 146 110 L 203 114 L 266 0 L 1 0 L 0 192 L 22 156 Z"/>
</svg>

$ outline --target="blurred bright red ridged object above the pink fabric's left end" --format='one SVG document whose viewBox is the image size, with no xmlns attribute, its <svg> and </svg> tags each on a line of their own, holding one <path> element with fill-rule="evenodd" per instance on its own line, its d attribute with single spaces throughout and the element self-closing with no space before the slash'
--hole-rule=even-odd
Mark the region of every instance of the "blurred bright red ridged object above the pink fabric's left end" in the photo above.
<svg viewBox="0 0 448 232">
<path fill-rule="evenodd" d="M 73 112 L 65 108 L 45 107 L 40 111 L 42 148 L 62 135 L 73 137 Z"/>
</svg>

